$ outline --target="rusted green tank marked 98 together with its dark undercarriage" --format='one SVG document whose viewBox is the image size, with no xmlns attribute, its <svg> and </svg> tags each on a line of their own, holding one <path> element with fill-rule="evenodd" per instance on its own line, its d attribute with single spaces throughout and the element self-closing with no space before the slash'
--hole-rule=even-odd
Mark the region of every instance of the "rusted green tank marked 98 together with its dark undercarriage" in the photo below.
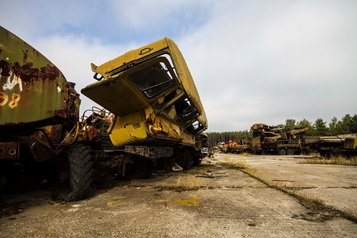
<svg viewBox="0 0 357 238">
<path fill-rule="evenodd" d="M 74 85 L 45 56 L 0 26 L 0 188 L 16 186 L 12 180 L 27 171 L 35 174 L 43 164 L 37 162 L 65 164 L 58 156 L 63 147 L 57 150 L 56 144 L 78 121 Z M 46 164 L 42 171 L 49 169 Z"/>
</svg>

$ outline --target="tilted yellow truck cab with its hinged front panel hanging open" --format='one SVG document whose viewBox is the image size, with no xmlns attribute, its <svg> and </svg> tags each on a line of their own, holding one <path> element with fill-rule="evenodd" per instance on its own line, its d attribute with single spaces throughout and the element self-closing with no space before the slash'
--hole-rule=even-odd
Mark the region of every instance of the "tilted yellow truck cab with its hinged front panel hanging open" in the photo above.
<svg viewBox="0 0 357 238">
<path fill-rule="evenodd" d="M 196 138 L 208 123 L 174 41 L 165 37 L 100 66 L 92 64 L 92 71 L 99 82 L 81 92 L 114 114 L 107 132 L 115 147 L 143 156 L 140 151 L 155 151 L 155 146 L 172 147 L 173 157 L 186 157 L 181 165 L 190 167 Z"/>
</svg>

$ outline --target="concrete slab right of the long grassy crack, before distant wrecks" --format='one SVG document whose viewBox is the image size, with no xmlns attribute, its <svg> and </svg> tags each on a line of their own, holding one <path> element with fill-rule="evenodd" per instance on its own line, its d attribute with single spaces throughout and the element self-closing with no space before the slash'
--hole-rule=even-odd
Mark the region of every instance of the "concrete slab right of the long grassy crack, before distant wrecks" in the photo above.
<svg viewBox="0 0 357 238">
<path fill-rule="evenodd" d="M 309 156 L 216 154 L 218 161 L 230 156 L 244 158 L 247 172 L 272 185 L 299 188 L 302 194 L 322 198 L 326 204 L 357 215 L 357 167 L 327 164 L 302 164 Z"/>
</svg>

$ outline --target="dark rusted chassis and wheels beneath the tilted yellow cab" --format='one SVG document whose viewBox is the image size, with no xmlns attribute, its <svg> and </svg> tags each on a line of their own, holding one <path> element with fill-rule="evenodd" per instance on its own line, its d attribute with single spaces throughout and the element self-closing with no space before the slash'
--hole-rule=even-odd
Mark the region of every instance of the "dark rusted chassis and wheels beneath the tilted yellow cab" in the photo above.
<svg viewBox="0 0 357 238">
<path fill-rule="evenodd" d="M 122 150 L 92 151 L 99 176 L 111 173 L 127 178 L 148 177 L 152 170 L 188 169 L 192 164 L 199 164 L 202 157 L 203 154 L 191 147 L 125 146 Z"/>
</svg>

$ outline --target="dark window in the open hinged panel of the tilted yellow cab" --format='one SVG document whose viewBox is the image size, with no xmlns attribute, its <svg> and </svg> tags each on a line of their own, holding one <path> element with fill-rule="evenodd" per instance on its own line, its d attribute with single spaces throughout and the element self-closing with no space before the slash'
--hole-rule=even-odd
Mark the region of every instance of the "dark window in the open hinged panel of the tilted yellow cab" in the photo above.
<svg viewBox="0 0 357 238">
<path fill-rule="evenodd" d="M 149 98 L 174 85 L 174 80 L 164 62 L 157 62 L 139 70 L 129 75 L 128 79 Z"/>
</svg>

